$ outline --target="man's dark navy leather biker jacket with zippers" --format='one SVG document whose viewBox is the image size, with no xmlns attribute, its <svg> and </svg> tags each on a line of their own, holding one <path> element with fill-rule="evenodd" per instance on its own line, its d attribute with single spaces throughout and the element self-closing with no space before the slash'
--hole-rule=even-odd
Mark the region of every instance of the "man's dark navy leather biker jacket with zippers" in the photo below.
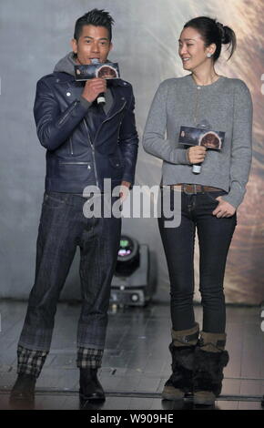
<svg viewBox="0 0 264 428">
<path fill-rule="evenodd" d="M 138 138 L 131 85 L 111 80 L 113 104 L 93 138 L 83 88 L 84 82 L 62 72 L 37 82 L 34 115 L 46 148 L 46 190 L 82 193 L 88 185 L 103 190 L 104 178 L 111 178 L 112 189 L 122 180 L 133 185 Z"/>
</svg>

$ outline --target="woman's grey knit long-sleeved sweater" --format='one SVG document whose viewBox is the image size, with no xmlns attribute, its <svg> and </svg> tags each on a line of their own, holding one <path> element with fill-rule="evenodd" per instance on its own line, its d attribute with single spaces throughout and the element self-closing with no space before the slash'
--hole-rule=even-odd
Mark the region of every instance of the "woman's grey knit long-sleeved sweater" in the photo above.
<svg viewBox="0 0 264 428">
<path fill-rule="evenodd" d="M 178 145 L 181 126 L 224 131 L 223 148 L 209 149 L 201 173 L 192 172 L 187 149 Z M 211 85 L 195 83 L 191 75 L 160 84 L 147 117 L 143 147 L 163 160 L 164 185 L 191 183 L 228 191 L 222 197 L 233 207 L 242 202 L 252 158 L 252 101 L 249 88 L 237 78 L 220 76 Z"/>
</svg>

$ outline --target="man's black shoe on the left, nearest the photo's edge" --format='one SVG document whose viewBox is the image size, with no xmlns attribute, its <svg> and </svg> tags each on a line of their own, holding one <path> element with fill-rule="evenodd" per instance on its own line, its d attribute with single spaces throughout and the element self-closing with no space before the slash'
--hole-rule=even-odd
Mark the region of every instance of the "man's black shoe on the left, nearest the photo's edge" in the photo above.
<svg viewBox="0 0 264 428">
<path fill-rule="evenodd" d="M 36 377 L 31 374 L 18 374 L 10 393 L 9 403 L 33 404 L 35 401 Z"/>
</svg>

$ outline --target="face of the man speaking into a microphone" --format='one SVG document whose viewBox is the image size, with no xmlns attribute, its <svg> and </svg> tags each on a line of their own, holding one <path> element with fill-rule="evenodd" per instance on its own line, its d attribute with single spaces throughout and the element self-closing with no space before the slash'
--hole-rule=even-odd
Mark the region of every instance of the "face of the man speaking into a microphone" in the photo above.
<svg viewBox="0 0 264 428">
<path fill-rule="evenodd" d="M 105 63 L 112 49 L 112 43 L 105 26 L 84 25 L 78 41 L 72 40 L 72 47 L 77 55 L 76 63 L 86 65 L 92 63 L 92 58 Z"/>
</svg>

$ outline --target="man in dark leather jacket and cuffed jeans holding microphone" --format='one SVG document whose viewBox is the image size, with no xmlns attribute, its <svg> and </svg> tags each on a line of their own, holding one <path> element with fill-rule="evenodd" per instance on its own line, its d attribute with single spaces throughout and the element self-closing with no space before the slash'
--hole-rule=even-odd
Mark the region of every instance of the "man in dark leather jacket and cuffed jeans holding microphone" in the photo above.
<svg viewBox="0 0 264 428">
<path fill-rule="evenodd" d="M 110 189 L 133 186 L 138 146 L 135 100 L 131 85 L 121 79 L 77 82 L 74 66 L 90 64 L 93 58 L 107 62 L 112 24 L 112 17 L 103 10 L 81 16 L 76 21 L 73 52 L 37 82 L 34 114 L 37 136 L 46 148 L 46 191 L 36 245 L 36 279 L 18 342 L 18 377 L 11 403 L 34 403 L 36 378 L 50 349 L 56 303 L 77 246 L 82 292 L 76 361 L 80 397 L 105 399 L 96 372 L 106 339 L 121 219 L 103 213 L 86 218 L 83 192 L 96 186 L 97 197 L 103 199 L 106 178 Z M 100 93 L 106 95 L 104 107 L 96 103 Z M 117 199 L 111 195 L 111 204 Z"/>
</svg>

